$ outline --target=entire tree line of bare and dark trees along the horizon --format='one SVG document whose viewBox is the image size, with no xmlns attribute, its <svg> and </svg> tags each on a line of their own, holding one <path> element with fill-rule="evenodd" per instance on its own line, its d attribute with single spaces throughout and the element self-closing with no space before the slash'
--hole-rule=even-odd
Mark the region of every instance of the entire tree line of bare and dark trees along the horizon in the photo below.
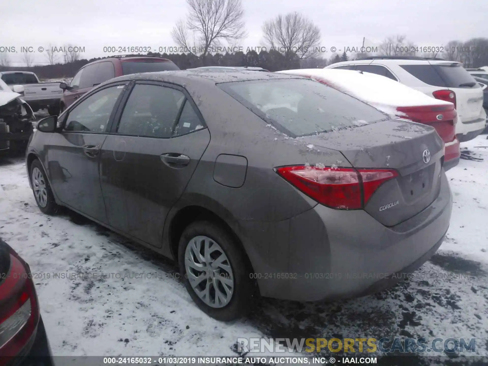
<svg viewBox="0 0 488 366">
<path fill-rule="evenodd" d="M 147 55 L 167 58 L 181 69 L 199 66 L 257 66 L 270 71 L 294 68 L 324 67 L 331 63 L 355 60 L 366 56 L 421 56 L 463 62 L 465 67 L 488 65 L 488 38 L 468 41 L 449 41 L 445 46 L 418 46 L 405 35 L 387 37 L 374 48 L 374 53 L 355 52 L 329 58 L 320 53 L 321 31 L 310 19 L 298 12 L 279 14 L 266 20 L 262 26 L 263 47 L 256 50 L 215 53 L 215 49 L 236 49 L 247 36 L 241 0 L 186 0 L 188 12 L 176 22 L 171 37 L 183 50 L 176 53 Z M 224 45 L 224 46 L 223 46 Z M 228 45 L 225 47 L 225 45 Z M 65 47 L 69 48 L 70 45 Z M 257 47 L 256 47 L 257 48 Z M 6 54 L 0 53 L 0 71 L 34 71 L 41 78 L 72 77 L 84 64 L 99 60 L 82 59 L 76 50 L 65 52 L 57 60 L 51 45 L 46 50 L 49 64 L 33 65 L 31 55 L 24 55 L 27 67 L 11 67 Z M 63 61 L 63 62 L 60 62 Z"/>
</svg>

